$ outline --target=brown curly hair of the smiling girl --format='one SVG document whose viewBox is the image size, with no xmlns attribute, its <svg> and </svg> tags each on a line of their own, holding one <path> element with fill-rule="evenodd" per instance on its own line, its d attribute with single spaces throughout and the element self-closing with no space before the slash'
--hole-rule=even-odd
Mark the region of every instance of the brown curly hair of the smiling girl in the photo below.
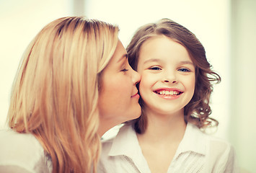
<svg viewBox="0 0 256 173">
<path fill-rule="evenodd" d="M 190 30 L 171 19 L 160 19 L 159 22 L 138 28 L 131 43 L 126 48 L 132 68 L 137 69 L 141 45 L 150 37 L 157 35 L 164 35 L 183 45 L 195 65 L 195 92 L 193 98 L 185 106 L 185 121 L 197 125 L 198 128 L 206 128 L 210 125 L 218 126 L 219 122 L 209 117 L 211 115 L 209 102 L 211 92 L 213 92 L 213 83 L 218 84 L 221 77 L 211 70 L 212 66 L 206 59 L 206 51 L 203 45 Z M 139 102 L 142 108 L 141 117 L 132 120 L 130 123 L 133 124 L 137 133 L 144 133 L 147 119 L 144 116 L 144 102 L 142 99 Z"/>
</svg>

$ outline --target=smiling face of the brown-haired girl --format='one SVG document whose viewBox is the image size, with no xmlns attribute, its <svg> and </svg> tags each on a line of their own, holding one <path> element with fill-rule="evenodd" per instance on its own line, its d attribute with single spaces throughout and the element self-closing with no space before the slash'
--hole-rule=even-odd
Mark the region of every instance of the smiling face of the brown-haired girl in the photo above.
<svg viewBox="0 0 256 173">
<path fill-rule="evenodd" d="M 195 66 L 185 47 L 158 35 L 141 46 L 137 71 L 146 110 L 183 114 L 195 90 Z"/>
</svg>

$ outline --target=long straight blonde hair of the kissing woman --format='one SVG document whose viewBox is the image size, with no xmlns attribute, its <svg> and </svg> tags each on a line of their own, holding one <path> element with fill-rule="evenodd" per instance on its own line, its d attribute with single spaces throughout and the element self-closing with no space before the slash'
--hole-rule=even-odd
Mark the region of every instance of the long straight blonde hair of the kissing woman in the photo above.
<svg viewBox="0 0 256 173">
<path fill-rule="evenodd" d="M 32 133 L 53 172 L 96 172 L 100 73 L 118 44 L 118 27 L 84 17 L 46 25 L 25 51 L 12 88 L 9 127 Z"/>
</svg>

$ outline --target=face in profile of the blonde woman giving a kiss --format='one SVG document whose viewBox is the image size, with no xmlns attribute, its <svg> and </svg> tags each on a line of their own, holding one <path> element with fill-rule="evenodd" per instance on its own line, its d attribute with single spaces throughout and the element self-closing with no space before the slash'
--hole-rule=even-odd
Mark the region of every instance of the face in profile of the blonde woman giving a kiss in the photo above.
<svg viewBox="0 0 256 173">
<path fill-rule="evenodd" d="M 102 121 L 113 127 L 141 115 L 136 88 L 140 79 L 128 63 L 123 44 L 118 41 L 114 55 L 101 74 L 98 105 Z"/>
</svg>

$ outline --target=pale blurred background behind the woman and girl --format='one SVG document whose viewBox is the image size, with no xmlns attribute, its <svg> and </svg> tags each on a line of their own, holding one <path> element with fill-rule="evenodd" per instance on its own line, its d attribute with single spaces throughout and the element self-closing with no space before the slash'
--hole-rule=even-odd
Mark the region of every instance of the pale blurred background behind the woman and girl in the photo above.
<svg viewBox="0 0 256 173">
<path fill-rule="evenodd" d="M 255 0 L 0 0 L 0 128 L 6 128 L 12 81 L 25 48 L 46 24 L 74 15 L 119 25 L 124 46 L 138 27 L 162 18 L 193 32 L 222 77 L 211 98 L 211 117 L 219 120 L 214 136 L 234 146 L 242 172 L 255 172 Z"/>
</svg>

